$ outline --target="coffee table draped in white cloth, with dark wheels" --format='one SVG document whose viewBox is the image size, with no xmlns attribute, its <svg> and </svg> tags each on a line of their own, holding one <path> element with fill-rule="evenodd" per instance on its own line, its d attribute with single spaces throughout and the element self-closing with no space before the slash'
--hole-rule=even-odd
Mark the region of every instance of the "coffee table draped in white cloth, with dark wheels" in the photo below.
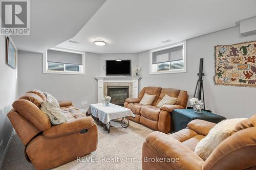
<svg viewBox="0 0 256 170">
<path fill-rule="evenodd" d="M 105 129 L 110 133 L 110 121 L 120 122 L 123 128 L 129 127 L 129 119 L 127 116 L 135 117 L 130 109 L 110 103 L 109 106 L 103 106 L 102 103 L 91 104 L 87 111 L 87 116 L 92 115 L 99 120 Z M 121 120 L 116 120 L 121 118 Z"/>
</svg>

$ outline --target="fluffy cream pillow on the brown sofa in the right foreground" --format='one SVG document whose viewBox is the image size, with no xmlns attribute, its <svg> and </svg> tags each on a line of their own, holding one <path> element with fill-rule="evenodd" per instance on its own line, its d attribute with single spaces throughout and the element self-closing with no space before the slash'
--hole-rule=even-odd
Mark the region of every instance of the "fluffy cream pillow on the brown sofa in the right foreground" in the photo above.
<svg viewBox="0 0 256 170">
<path fill-rule="evenodd" d="M 195 153 L 203 160 L 206 160 L 223 140 L 232 135 L 234 127 L 245 119 L 246 118 L 232 118 L 222 120 L 209 131 L 205 138 L 197 143 Z"/>
</svg>

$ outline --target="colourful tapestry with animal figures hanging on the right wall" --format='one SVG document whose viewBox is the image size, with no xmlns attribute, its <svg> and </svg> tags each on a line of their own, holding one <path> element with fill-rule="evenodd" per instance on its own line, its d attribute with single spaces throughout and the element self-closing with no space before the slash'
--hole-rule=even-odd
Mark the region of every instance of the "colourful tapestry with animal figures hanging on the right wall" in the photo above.
<svg viewBox="0 0 256 170">
<path fill-rule="evenodd" d="M 215 46 L 216 85 L 256 87 L 256 41 Z"/>
</svg>

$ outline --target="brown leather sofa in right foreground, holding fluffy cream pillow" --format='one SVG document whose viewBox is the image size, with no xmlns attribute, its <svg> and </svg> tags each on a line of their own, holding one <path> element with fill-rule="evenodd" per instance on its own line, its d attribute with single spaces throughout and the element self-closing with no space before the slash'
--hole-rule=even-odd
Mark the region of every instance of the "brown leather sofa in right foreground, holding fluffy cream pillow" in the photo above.
<svg viewBox="0 0 256 170">
<path fill-rule="evenodd" d="M 194 153 L 194 150 L 197 143 L 215 125 L 196 119 L 188 124 L 187 129 L 170 135 L 161 132 L 151 133 L 143 143 L 142 169 L 256 169 L 256 115 L 238 123 L 234 134 L 221 142 L 210 156 L 203 161 Z M 161 158 L 162 162 L 156 162 L 152 158 L 155 158 L 155 160 Z M 163 161 L 164 158 L 165 161 Z M 173 161 L 168 162 L 166 158 L 173 158 Z M 179 158 L 179 160 L 174 161 L 176 158 Z"/>
</svg>

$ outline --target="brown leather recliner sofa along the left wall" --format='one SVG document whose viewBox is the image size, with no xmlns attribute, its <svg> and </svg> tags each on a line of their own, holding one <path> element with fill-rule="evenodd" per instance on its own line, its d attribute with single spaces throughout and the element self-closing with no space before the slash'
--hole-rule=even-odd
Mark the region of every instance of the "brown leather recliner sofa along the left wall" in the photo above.
<svg viewBox="0 0 256 170">
<path fill-rule="evenodd" d="M 8 117 L 25 145 L 25 156 L 36 169 L 49 169 L 87 155 L 97 148 L 98 129 L 70 101 L 59 101 L 68 122 L 52 126 L 39 109 L 44 93 L 31 90 L 13 103 Z"/>
</svg>

